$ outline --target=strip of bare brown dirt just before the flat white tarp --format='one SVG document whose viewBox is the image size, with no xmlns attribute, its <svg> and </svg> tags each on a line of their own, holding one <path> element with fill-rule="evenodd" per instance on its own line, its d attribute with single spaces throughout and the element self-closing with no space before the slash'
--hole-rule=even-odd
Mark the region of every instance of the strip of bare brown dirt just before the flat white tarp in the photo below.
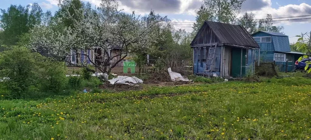
<svg viewBox="0 0 311 140">
<path fill-rule="evenodd" d="M 122 91 L 130 91 L 130 90 L 142 90 L 142 85 L 127 85 L 127 84 L 102 84 L 99 86 L 101 89 L 109 90 L 112 92 L 122 92 Z"/>
</svg>

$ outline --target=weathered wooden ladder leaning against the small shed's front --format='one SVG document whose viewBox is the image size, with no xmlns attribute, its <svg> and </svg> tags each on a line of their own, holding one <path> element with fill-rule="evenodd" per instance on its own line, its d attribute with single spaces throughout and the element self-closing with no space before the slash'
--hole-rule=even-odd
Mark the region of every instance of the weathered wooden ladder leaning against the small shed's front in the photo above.
<svg viewBox="0 0 311 140">
<path fill-rule="evenodd" d="M 216 47 L 217 47 L 217 43 L 215 43 L 215 46 L 211 45 L 209 50 L 208 50 L 208 57 L 207 57 L 206 66 L 205 66 L 205 70 L 204 70 L 206 72 L 209 72 L 208 77 L 211 77 L 212 70 L 215 66 Z"/>
</svg>

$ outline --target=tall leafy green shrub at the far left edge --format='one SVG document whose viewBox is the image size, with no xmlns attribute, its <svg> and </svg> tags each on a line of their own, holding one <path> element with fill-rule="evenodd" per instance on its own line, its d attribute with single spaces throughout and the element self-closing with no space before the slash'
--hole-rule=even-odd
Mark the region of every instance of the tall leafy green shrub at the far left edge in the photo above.
<svg viewBox="0 0 311 140">
<path fill-rule="evenodd" d="M 0 53 L 0 79 L 9 95 L 7 97 L 26 97 L 30 87 L 37 85 L 37 71 L 44 57 L 31 53 L 25 47 L 13 47 Z"/>
</svg>

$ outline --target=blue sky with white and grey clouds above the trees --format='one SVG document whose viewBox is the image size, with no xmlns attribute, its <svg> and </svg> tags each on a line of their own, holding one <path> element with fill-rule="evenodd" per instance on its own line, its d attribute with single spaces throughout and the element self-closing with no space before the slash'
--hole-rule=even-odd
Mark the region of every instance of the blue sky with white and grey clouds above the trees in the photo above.
<svg viewBox="0 0 311 140">
<path fill-rule="evenodd" d="M 100 0 L 84 0 L 91 2 L 92 5 L 99 5 Z M 125 12 L 135 11 L 137 14 L 147 14 L 150 10 L 168 16 L 174 22 L 193 22 L 195 21 L 195 9 L 199 8 L 202 0 L 118 0 L 119 8 Z M 43 11 L 50 10 L 55 12 L 57 7 L 56 0 L 0 0 L 0 8 L 7 9 L 11 4 L 23 5 L 37 2 Z M 272 14 L 273 18 L 287 16 L 311 15 L 311 0 L 247 0 L 243 3 L 240 15 L 245 11 L 252 11 L 255 19 L 265 18 L 266 14 Z M 311 16 L 310 16 L 311 17 Z M 299 35 L 301 32 L 311 31 L 311 20 L 292 20 L 278 21 L 275 25 L 284 26 L 284 33 L 289 37 Z M 191 31 L 192 25 L 175 25 L 176 28 L 183 28 Z M 290 38 L 290 43 L 297 40 L 296 37 Z"/>
</svg>

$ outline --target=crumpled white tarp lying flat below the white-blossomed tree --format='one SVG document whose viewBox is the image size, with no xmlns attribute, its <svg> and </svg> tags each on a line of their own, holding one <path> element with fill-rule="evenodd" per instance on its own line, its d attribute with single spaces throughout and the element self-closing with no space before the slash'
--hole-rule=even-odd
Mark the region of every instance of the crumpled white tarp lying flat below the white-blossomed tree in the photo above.
<svg viewBox="0 0 311 140">
<path fill-rule="evenodd" d="M 138 83 L 142 83 L 143 81 L 135 76 L 128 77 L 128 76 L 118 76 L 117 78 L 113 78 L 108 80 L 110 84 L 128 84 L 128 85 L 135 85 Z"/>
</svg>

